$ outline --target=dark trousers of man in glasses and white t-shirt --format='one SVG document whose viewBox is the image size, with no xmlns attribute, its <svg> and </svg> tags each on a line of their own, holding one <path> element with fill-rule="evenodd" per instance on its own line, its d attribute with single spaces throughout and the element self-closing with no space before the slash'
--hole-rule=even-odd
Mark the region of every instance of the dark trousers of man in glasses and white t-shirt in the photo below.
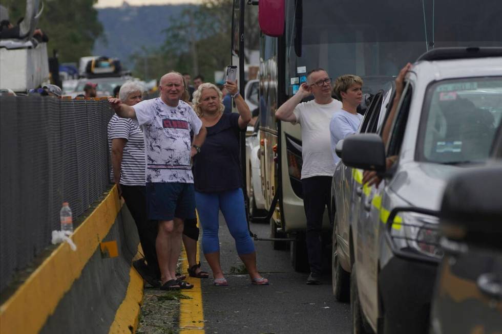
<svg viewBox="0 0 502 334">
<path fill-rule="evenodd" d="M 303 207 L 307 216 L 308 263 L 312 273 L 322 272 L 322 239 L 324 207 L 329 208 L 331 194 L 331 176 L 312 176 L 302 180 Z"/>
</svg>

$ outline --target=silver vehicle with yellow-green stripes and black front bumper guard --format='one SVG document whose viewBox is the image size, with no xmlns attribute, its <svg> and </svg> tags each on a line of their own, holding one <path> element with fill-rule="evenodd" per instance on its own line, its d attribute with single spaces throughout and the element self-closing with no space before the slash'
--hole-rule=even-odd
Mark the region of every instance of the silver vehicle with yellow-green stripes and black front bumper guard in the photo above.
<svg viewBox="0 0 502 334">
<path fill-rule="evenodd" d="M 343 163 L 382 177 L 352 214 L 354 332 L 428 331 L 445 184 L 487 160 L 501 118 L 502 49 L 434 49 L 406 76 L 387 146 L 374 134 L 345 139 Z"/>
</svg>

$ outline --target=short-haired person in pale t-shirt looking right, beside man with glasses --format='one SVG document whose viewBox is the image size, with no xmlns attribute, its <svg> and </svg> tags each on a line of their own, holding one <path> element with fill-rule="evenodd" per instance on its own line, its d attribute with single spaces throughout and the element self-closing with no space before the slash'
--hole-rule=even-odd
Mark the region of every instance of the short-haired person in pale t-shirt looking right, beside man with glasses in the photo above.
<svg viewBox="0 0 502 334">
<path fill-rule="evenodd" d="M 334 164 L 338 164 L 335 148 L 337 143 L 358 131 L 363 115 L 358 114 L 357 108 L 363 100 L 363 79 L 357 75 L 346 74 L 337 78 L 334 82 L 334 94 L 342 100 L 342 107 L 333 115 L 329 123 L 331 133 L 331 153 Z"/>
</svg>

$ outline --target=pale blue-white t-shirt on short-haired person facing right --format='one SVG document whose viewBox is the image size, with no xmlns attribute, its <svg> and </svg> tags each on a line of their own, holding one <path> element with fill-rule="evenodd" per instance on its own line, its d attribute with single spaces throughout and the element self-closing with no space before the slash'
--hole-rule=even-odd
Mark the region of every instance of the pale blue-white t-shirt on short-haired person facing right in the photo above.
<svg viewBox="0 0 502 334">
<path fill-rule="evenodd" d="M 340 158 L 334 150 L 337 147 L 337 143 L 345 139 L 348 135 L 357 132 L 362 120 L 363 115 L 350 114 L 342 108 L 334 113 L 331 118 L 331 122 L 329 122 L 329 132 L 331 133 L 331 154 L 335 165 L 340 162 Z"/>
</svg>

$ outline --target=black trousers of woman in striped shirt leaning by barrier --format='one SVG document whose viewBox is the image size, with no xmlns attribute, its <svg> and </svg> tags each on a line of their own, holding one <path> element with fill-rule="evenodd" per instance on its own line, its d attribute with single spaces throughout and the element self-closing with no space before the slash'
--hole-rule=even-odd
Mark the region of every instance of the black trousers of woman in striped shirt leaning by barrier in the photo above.
<svg viewBox="0 0 502 334">
<path fill-rule="evenodd" d="M 155 249 L 158 224 L 156 220 L 149 220 L 147 214 L 147 195 L 145 186 L 120 185 L 122 197 L 133 216 L 138 229 L 139 241 L 148 269 L 154 277 L 160 277 L 159 261 Z"/>
</svg>

